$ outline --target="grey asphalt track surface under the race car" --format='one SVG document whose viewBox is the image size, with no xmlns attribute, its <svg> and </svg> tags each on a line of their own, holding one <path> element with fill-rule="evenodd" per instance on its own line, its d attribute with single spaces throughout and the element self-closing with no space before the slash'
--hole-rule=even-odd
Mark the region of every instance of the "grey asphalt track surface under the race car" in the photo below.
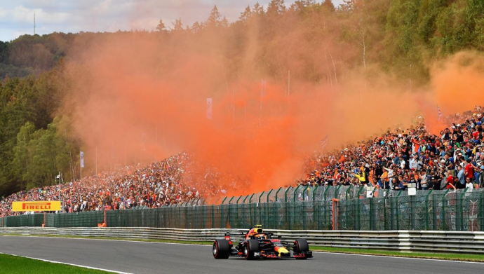
<svg viewBox="0 0 484 274">
<path fill-rule="evenodd" d="M 484 263 L 314 253 L 313 259 L 215 260 L 212 247 L 0 236 L 0 252 L 126 273 L 483 273 Z M 0 266 L 1 268 L 1 266 Z M 34 273 L 35 270 L 32 270 Z"/>
</svg>

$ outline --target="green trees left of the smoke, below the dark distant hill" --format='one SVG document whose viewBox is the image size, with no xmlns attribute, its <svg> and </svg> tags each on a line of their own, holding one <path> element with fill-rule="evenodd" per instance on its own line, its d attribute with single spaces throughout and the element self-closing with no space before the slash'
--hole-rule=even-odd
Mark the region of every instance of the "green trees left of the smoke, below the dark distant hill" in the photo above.
<svg viewBox="0 0 484 274">
<path fill-rule="evenodd" d="M 51 118 L 62 101 L 63 63 L 39 77 L 5 78 L 0 85 L 0 196 L 50 184 L 55 172 L 71 177 L 74 147 Z"/>
</svg>

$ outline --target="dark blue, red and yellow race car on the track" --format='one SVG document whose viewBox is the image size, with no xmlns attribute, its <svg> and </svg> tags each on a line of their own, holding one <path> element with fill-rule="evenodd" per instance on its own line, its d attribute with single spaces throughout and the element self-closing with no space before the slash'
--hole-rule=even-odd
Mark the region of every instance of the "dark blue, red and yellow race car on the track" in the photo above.
<svg viewBox="0 0 484 274">
<path fill-rule="evenodd" d="M 232 233 L 233 234 L 233 233 Z M 307 259 L 313 257 L 309 251 L 307 240 L 297 239 L 294 242 L 281 240 L 274 237 L 274 233 L 264 233 L 262 226 L 250 228 L 248 233 L 241 233 L 243 240 L 234 246 L 230 235 L 225 233 L 224 239 L 213 242 L 212 252 L 215 259 L 228 259 L 229 256 L 251 259 L 267 258 L 290 258 L 290 250 L 293 250 L 295 259 Z"/>
</svg>

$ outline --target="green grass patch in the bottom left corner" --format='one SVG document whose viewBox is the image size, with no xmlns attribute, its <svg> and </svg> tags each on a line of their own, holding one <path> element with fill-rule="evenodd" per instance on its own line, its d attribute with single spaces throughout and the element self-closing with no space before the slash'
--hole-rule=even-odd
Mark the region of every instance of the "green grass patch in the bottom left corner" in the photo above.
<svg viewBox="0 0 484 274">
<path fill-rule="evenodd" d="M 36 259 L 29 259 L 20 256 L 0 254 L 0 270 L 2 274 L 51 274 L 51 273 L 69 273 L 69 274 L 106 274 L 102 270 L 81 268 L 79 266 L 69 266 L 63 263 L 49 263 Z"/>
</svg>

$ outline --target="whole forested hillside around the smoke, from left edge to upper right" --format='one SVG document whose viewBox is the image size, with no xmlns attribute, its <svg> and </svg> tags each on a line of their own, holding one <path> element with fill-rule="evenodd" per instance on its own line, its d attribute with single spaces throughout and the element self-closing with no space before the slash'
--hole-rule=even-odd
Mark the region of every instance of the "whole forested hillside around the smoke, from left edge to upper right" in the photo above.
<svg viewBox="0 0 484 274">
<path fill-rule="evenodd" d="M 375 70 L 411 81 L 429 81 L 431 66 L 462 50 L 484 50 L 480 0 L 299 0 L 285 6 L 248 6 L 229 22 L 215 6 L 204 22 L 159 21 L 155 31 L 23 35 L 0 41 L 0 196 L 66 181 L 79 173 L 83 142 L 60 111 L 72 93 L 65 60 L 109 36 L 143 37 L 163 46 L 161 72 L 186 50 L 217 56 L 223 83 L 241 69 L 288 85 L 293 81 L 337 85 L 350 71 L 371 78 Z M 247 56 L 250 55 L 250 64 Z M 85 56 L 86 60 L 89 56 Z M 70 75 L 69 77 L 72 77 Z"/>
</svg>

